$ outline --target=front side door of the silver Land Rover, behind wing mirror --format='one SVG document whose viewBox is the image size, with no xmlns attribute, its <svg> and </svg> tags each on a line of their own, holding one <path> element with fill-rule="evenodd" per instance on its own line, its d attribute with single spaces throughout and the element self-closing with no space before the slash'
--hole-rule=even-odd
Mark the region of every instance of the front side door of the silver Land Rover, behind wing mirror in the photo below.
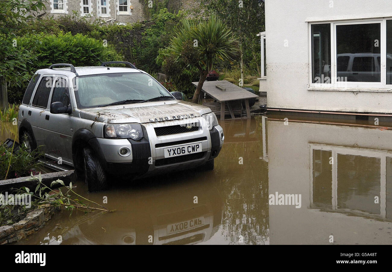
<svg viewBox="0 0 392 272">
<path fill-rule="evenodd" d="M 54 86 L 51 91 L 50 104 L 62 102 L 64 106 L 71 106 L 71 99 L 68 88 L 68 80 L 65 76 L 56 76 Z M 72 106 L 71 106 L 72 108 Z M 48 113 L 45 119 L 46 126 L 49 128 L 45 137 L 45 144 L 48 146 L 48 155 L 52 159 L 64 160 L 72 163 L 72 135 L 71 118 L 73 114 L 68 113 Z M 61 161 L 60 160 L 60 161 Z"/>
</svg>

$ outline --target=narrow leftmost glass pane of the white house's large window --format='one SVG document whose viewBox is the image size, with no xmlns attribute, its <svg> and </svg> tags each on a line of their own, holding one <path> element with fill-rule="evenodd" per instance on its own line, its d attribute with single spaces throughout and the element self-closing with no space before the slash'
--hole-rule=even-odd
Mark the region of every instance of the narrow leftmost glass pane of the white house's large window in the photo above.
<svg viewBox="0 0 392 272">
<path fill-rule="evenodd" d="M 331 83 L 331 25 L 312 25 L 312 83 Z"/>
</svg>

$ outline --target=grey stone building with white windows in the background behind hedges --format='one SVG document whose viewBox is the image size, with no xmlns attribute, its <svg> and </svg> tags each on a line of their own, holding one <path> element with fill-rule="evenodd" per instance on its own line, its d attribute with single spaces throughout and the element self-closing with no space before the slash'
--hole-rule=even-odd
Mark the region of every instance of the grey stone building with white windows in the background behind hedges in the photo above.
<svg viewBox="0 0 392 272">
<path fill-rule="evenodd" d="M 90 21 L 98 18 L 113 23 L 135 23 L 145 19 L 138 0 L 48 0 L 45 12 L 58 18 L 73 11 Z"/>
</svg>

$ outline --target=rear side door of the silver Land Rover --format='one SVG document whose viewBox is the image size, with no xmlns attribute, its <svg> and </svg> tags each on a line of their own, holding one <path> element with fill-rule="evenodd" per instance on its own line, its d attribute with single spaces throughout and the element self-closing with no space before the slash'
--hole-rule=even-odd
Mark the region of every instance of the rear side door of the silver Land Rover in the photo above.
<svg viewBox="0 0 392 272">
<path fill-rule="evenodd" d="M 53 86 L 53 76 L 44 75 L 34 92 L 31 108 L 28 109 L 27 115 L 31 121 L 35 141 L 37 147 L 46 153 L 47 146 L 45 146 L 45 135 L 47 134 L 47 123 L 45 122 L 46 116 L 49 114 L 48 101 L 49 95 Z"/>
</svg>

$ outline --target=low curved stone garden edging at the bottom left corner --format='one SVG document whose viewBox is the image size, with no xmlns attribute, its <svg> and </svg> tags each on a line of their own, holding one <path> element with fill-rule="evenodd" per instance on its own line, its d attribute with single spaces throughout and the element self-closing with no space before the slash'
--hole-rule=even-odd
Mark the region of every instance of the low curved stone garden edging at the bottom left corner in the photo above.
<svg viewBox="0 0 392 272">
<path fill-rule="evenodd" d="M 0 245 L 20 241 L 42 228 L 56 210 L 54 207 L 49 207 L 49 204 L 42 206 L 42 209 L 27 213 L 26 217 L 18 223 L 1 226 Z"/>
</svg>

